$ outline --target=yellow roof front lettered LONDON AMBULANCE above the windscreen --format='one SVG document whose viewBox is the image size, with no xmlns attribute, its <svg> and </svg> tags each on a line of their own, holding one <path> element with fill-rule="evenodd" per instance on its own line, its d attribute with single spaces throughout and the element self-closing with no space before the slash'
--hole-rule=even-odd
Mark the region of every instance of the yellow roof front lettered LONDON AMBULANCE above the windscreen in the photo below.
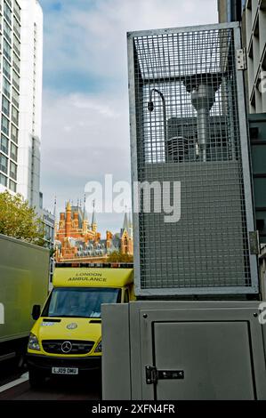
<svg viewBox="0 0 266 418">
<path fill-rule="evenodd" d="M 55 268 L 54 287 L 123 287 L 133 283 L 133 269 Z"/>
</svg>

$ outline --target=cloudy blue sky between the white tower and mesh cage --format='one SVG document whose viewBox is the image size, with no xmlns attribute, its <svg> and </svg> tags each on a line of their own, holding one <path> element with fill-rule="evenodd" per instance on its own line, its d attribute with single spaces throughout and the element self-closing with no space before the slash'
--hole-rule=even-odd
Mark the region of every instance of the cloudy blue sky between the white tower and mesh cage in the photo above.
<svg viewBox="0 0 266 418">
<path fill-rule="evenodd" d="M 216 0 L 39 0 L 44 12 L 41 188 L 58 213 L 87 181 L 130 181 L 126 31 L 217 22 Z M 122 214 L 98 215 L 101 232 Z"/>
</svg>

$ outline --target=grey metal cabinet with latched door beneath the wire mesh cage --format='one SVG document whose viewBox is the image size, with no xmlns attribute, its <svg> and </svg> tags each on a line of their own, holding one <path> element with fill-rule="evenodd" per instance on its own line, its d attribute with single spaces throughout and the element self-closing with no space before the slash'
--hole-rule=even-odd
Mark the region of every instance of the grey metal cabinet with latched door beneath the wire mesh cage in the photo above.
<svg viewBox="0 0 266 418">
<path fill-rule="evenodd" d="M 103 398 L 265 399 L 266 331 L 258 307 L 137 301 L 123 312 L 112 306 L 110 315 L 103 306 Z"/>
</svg>

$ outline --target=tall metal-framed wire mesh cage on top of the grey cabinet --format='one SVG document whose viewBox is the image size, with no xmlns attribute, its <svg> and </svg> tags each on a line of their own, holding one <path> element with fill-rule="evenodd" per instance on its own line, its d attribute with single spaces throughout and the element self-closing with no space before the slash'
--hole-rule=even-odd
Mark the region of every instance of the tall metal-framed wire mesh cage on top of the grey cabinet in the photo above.
<svg viewBox="0 0 266 418">
<path fill-rule="evenodd" d="M 128 34 L 139 295 L 258 291 L 237 30 L 230 24 Z M 165 216 L 169 207 L 179 208 L 178 219 Z"/>
</svg>

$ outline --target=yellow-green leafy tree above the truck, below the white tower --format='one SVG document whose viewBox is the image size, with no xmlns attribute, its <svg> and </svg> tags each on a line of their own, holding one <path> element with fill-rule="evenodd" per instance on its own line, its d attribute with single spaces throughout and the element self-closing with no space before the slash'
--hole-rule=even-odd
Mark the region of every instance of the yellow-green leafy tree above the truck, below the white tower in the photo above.
<svg viewBox="0 0 266 418">
<path fill-rule="evenodd" d="M 44 223 L 19 194 L 0 193 L 0 234 L 44 246 Z"/>
</svg>

